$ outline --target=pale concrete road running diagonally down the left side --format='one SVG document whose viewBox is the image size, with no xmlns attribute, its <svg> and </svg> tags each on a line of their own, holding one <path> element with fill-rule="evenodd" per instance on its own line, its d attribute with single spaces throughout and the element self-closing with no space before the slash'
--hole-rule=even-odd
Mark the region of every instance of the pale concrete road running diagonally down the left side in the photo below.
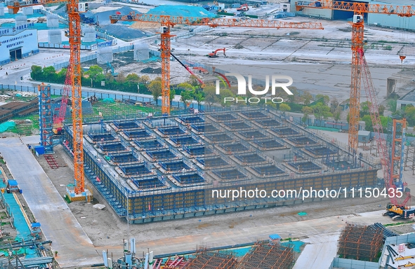
<svg viewBox="0 0 415 269">
<path fill-rule="evenodd" d="M 62 268 L 102 263 L 91 240 L 79 225 L 66 202 L 60 197 L 26 144 L 39 142 L 39 137 L 0 139 L 0 152 L 13 178 L 18 181 L 23 196 L 41 223 L 46 240 L 52 240 L 53 251 L 58 251 Z"/>
</svg>

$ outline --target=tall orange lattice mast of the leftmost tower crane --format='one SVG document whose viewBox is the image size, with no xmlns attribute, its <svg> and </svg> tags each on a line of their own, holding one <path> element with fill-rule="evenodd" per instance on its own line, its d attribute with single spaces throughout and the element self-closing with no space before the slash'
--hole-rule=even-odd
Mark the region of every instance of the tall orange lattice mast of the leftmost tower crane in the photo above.
<svg viewBox="0 0 415 269">
<path fill-rule="evenodd" d="M 81 18 L 79 1 L 70 0 L 67 4 L 70 43 L 70 70 L 72 89 L 72 129 L 74 152 L 75 194 L 84 192 L 84 149 L 82 130 L 82 100 L 81 100 Z"/>
</svg>

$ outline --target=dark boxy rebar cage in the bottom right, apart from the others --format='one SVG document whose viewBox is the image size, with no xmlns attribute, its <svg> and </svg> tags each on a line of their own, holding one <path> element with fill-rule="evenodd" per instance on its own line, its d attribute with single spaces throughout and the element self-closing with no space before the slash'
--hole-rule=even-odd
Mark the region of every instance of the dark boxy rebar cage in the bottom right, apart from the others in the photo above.
<svg viewBox="0 0 415 269">
<path fill-rule="evenodd" d="M 383 230 L 351 224 L 343 228 L 338 239 L 337 254 L 341 258 L 360 261 L 378 261 L 383 245 Z"/>
</svg>

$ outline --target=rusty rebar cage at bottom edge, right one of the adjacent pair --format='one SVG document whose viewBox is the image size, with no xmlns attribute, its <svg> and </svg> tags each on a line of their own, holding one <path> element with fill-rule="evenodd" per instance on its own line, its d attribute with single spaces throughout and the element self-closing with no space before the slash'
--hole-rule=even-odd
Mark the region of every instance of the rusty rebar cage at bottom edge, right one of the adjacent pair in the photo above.
<svg viewBox="0 0 415 269">
<path fill-rule="evenodd" d="M 256 242 L 239 261 L 237 269 L 291 269 L 294 265 L 294 250 L 269 241 Z"/>
</svg>

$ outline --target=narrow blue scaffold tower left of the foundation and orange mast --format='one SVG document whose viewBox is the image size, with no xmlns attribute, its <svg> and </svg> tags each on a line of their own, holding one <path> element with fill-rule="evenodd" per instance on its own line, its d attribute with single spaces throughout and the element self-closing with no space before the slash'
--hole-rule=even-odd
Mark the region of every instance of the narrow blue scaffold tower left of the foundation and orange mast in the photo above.
<svg viewBox="0 0 415 269">
<path fill-rule="evenodd" d="M 52 104 L 51 85 L 41 84 L 39 89 L 39 127 L 40 143 L 44 146 L 45 153 L 53 153 L 53 132 L 52 132 Z"/>
</svg>

